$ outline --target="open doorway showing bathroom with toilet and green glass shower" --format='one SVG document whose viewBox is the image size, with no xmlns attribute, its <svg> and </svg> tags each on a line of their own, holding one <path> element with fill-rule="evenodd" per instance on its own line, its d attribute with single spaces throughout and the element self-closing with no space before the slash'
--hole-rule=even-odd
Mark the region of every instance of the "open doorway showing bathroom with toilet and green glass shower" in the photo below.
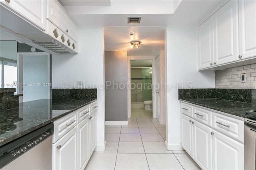
<svg viewBox="0 0 256 170">
<path fill-rule="evenodd" d="M 128 118 L 154 115 L 154 57 L 128 57 Z"/>
</svg>

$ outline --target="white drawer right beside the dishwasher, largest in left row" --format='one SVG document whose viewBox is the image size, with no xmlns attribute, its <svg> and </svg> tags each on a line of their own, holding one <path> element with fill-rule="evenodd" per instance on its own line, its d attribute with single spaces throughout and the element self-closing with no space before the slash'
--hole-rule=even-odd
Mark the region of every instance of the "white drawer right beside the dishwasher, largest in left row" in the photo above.
<svg viewBox="0 0 256 170">
<path fill-rule="evenodd" d="M 52 142 L 55 143 L 64 134 L 77 125 L 77 111 L 74 111 L 57 121 L 54 121 L 54 134 L 52 137 Z"/>
</svg>

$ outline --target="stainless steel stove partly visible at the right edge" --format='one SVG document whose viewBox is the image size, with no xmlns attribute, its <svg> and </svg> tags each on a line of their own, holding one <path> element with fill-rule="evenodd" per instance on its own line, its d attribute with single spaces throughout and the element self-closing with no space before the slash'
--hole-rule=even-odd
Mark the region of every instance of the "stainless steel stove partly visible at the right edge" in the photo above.
<svg viewBox="0 0 256 170">
<path fill-rule="evenodd" d="M 256 111 L 247 111 L 244 119 L 244 170 L 256 169 Z"/>
</svg>

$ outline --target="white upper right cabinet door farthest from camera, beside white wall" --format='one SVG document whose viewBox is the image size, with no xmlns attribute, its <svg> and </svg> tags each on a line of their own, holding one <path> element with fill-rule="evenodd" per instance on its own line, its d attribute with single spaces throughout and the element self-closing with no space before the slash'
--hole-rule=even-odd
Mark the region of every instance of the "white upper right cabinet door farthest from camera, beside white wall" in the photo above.
<svg viewBox="0 0 256 170">
<path fill-rule="evenodd" d="M 198 28 L 198 69 L 211 67 L 214 60 L 213 16 Z"/>
</svg>

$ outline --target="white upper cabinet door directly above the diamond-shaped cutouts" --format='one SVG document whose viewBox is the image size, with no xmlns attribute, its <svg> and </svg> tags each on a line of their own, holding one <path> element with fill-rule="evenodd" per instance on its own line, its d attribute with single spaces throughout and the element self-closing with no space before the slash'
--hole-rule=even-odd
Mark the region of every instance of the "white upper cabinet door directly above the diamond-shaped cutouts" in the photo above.
<svg viewBox="0 0 256 170">
<path fill-rule="evenodd" d="M 46 0 L 46 19 L 77 42 L 77 26 L 57 0 Z"/>
</svg>

